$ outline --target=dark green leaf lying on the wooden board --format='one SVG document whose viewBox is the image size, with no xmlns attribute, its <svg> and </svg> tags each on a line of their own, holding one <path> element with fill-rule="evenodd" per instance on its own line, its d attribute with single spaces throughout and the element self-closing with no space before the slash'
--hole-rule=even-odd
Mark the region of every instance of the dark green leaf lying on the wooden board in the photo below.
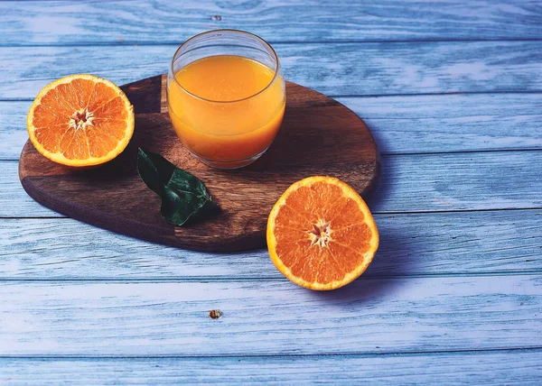
<svg viewBox="0 0 542 386">
<path fill-rule="evenodd" d="M 173 225 L 183 225 L 206 204 L 216 207 L 200 179 L 167 161 L 160 154 L 137 153 L 137 172 L 145 185 L 162 198 L 160 214 Z"/>
</svg>

